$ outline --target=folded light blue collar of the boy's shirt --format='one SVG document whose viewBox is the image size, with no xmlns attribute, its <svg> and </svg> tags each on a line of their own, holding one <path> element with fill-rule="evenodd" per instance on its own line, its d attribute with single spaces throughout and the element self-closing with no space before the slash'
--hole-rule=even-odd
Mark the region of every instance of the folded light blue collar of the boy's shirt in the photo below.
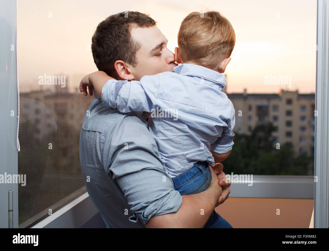
<svg viewBox="0 0 329 251">
<path fill-rule="evenodd" d="M 196 76 L 205 80 L 210 80 L 224 88 L 226 78 L 223 74 L 196 64 L 180 64 L 174 67 L 174 72 L 183 76 Z"/>
</svg>

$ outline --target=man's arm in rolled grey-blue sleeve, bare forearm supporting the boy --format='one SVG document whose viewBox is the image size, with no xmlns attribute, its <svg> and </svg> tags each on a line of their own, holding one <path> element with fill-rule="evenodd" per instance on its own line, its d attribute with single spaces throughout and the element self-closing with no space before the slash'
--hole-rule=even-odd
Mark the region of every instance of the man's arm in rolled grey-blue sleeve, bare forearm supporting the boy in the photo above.
<svg viewBox="0 0 329 251">
<path fill-rule="evenodd" d="M 146 227 L 205 225 L 222 191 L 215 174 L 206 191 L 181 196 L 164 169 L 154 138 L 137 116 L 127 115 L 111 135 L 104 143 L 103 165 L 131 205 L 131 221 L 146 224 L 153 218 Z"/>
</svg>

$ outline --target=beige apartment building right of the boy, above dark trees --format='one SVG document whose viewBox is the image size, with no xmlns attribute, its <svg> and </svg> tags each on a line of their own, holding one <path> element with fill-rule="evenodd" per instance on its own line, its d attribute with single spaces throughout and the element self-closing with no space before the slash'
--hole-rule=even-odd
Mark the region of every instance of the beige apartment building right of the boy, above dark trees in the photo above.
<svg viewBox="0 0 329 251">
<path fill-rule="evenodd" d="M 315 94 L 281 89 L 278 94 L 229 93 L 234 104 L 234 132 L 249 134 L 257 125 L 272 122 L 276 143 L 290 144 L 297 154 L 314 156 Z"/>
</svg>

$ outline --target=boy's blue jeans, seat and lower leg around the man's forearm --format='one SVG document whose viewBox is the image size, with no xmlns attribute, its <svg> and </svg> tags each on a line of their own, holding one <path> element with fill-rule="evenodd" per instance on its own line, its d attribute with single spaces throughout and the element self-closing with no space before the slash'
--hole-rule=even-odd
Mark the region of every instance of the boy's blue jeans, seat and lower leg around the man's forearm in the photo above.
<svg viewBox="0 0 329 251">
<path fill-rule="evenodd" d="M 172 178 L 172 181 L 175 190 L 181 195 L 188 195 L 206 190 L 210 185 L 211 179 L 211 171 L 208 163 L 206 161 L 199 161 L 190 170 Z M 214 211 L 204 228 L 232 228 L 232 226 Z"/>
</svg>

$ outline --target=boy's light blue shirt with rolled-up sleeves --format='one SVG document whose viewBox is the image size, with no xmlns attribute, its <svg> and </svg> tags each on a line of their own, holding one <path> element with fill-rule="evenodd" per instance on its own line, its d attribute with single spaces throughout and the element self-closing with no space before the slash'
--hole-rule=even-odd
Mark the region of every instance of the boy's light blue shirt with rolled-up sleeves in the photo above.
<svg viewBox="0 0 329 251">
<path fill-rule="evenodd" d="M 174 72 L 144 76 L 140 81 L 109 80 L 102 88 L 105 106 L 122 113 L 151 112 L 149 131 L 171 178 L 197 161 L 214 166 L 209 148 L 217 153 L 232 149 L 235 110 L 221 90 L 223 74 L 194 64 Z"/>
</svg>

